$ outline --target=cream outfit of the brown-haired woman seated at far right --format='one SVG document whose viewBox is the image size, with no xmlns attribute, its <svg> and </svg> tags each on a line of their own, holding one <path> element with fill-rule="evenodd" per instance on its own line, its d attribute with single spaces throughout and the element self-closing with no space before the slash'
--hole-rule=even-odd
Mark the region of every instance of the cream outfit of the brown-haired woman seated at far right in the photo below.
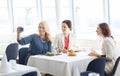
<svg viewBox="0 0 120 76">
<path fill-rule="evenodd" d="M 102 54 L 106 55 L 106 58 L 111 59 L 111 62 L 107 62 L 105 66 L 106 73 L 110 73 L 113 69 L 113 66 L 115 64 L 115 49 L 116 49 L 116 43 L 113 40 L 112 37 L 106 37 L 102 41 Z"/>
</svg>

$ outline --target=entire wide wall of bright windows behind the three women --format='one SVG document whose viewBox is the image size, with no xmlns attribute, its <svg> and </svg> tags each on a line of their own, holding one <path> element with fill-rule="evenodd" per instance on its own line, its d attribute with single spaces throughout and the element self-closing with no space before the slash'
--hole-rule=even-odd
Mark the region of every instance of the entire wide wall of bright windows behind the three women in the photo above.
<svg viewBox="0 0 120 76">
<path fill-rule="evenodd" d="M 61 23 L 70 19 L 78 37 L 96 38 L 96 27 L 107 22 L 114 35 L 120 35 L 119 0 L 0 0 L 0 33 L 16 32 L 23 26 L 29 34 L 38 22 L 46 20 L 52 36 L 61 32 Z"/>
</svg>

